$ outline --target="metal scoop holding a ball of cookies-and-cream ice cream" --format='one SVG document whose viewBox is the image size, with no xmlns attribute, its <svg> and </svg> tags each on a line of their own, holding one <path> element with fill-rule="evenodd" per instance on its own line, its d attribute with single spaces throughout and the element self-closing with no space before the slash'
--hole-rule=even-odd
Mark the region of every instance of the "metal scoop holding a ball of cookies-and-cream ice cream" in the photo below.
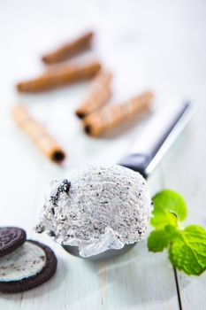
<svg viewBox="0 0 206 310">
<path fill-rule="evenodd" d="M 137 136 L 123 167 L 90 166 L 53 182 L 36 231 L 90 260 L 127 252 L 143 238 L 152 209 L 141 174 L 151 174 L 193 115 L 189 103 L 165 106 Z"/>
</svg>

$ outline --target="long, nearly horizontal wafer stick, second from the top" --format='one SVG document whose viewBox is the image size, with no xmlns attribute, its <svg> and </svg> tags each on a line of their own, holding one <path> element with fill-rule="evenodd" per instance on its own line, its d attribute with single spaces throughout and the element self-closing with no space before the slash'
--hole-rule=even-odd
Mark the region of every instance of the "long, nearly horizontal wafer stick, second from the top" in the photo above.
<svg viewBox="0 0 206 310">
<path fill-rule="evenodd" d="M 82 65 L 57 66 L 50 68 L 41 76 L 30 81 L 22 81 L 17 84 L 20 92 L 38 92 L 55 89 L 73 82 L 92 78 L 99 70 L 99 62 L 93 61 Z"/>
</svg>

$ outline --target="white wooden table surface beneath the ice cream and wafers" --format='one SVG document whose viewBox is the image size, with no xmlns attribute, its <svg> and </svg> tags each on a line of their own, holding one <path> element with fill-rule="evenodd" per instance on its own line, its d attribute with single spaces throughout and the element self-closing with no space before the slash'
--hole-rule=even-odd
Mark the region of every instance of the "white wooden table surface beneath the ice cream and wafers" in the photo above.
<svg viewBox="0 0 206 310">
<path fill-rule="evenodd" d="M 150 177 L 149 187 L 152 194 L 165 187 L 178 190 L 187 199 L 187 222 L 205 227 L 205 14 L 201 0 L 1 2 L 0 225 L 27 229 L 28 237 L 50 244 L 58 258 L 57 274 L 49 283 L 23 294 L 0 295 L 1 310 L 206 309 L 206 274 L 178 272 L 175 278 L 166 253 L 148 252 L 146 242 L 109 263 L 90 263 L 34 234 L 50 180 L 87 162 L 118 162 L 144 121 L 122 135 L 91 139 L 73 115 L 88 85 L 30 96 L 19 96 L 13 87 L 42 71 L 44 51 L 94 28 L 93 54 L 114 72 L 113 100 L 148 88 L 156 93 L 155 108 L 192 99 L 198 112 Z M 44 159 L 12 122 L 9 109 L 17 102 L 27 105 L 64 145 L 69 154 L 64 167 Z"/>
</svg>

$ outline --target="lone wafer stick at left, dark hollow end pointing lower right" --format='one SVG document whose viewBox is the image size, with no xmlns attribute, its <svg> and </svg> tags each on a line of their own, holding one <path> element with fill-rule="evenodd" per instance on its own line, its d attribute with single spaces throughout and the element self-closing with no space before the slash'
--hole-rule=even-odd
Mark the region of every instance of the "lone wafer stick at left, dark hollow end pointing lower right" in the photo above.
<svg viewBox="0 0 206 310">
<path fill-rule="evenodd" d="M 65 159 L 65 151 L 46 132 L 34 118 L 27 112 L 23 105 L 14 105 L 11 115 L 36 146 L 52 161 L 60 163 Z"/>
</svg>

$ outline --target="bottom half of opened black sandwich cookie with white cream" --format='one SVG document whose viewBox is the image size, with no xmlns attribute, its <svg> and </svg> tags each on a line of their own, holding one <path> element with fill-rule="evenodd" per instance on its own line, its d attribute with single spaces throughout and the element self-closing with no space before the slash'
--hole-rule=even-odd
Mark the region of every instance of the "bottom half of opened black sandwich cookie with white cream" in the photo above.
<svg viewBox="0 0 206 310">
<path fill-rule="evenodd" d="M 56 269 L 57 258 L 50 247 L 28 240 L 16 252 L 0 259 L 0 291 L 31 290 L 50 280 Z"/>
</svg>

